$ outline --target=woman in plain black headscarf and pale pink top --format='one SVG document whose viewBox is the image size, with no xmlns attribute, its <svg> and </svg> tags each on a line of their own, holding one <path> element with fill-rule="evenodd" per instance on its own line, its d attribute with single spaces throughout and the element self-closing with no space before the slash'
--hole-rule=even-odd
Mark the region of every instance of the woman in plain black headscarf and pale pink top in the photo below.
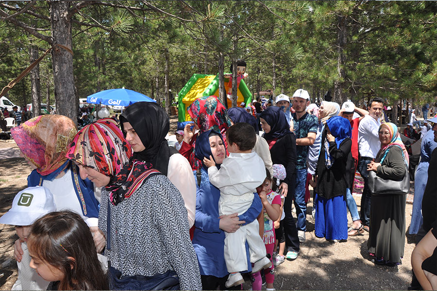
<svg viewBox="0 0 437 291">
<path fill-rule="evenodd" d="M 170 128 L 167 113 L 154 102 L 137 102 L 120 115 L 120 125 L 134 151 L 133 158 L 150 162 L 178 188 L 188 211 L 190 227 L 196 211 L 196 184 L 189 162 L 168 146 Z"/>
</svg>

